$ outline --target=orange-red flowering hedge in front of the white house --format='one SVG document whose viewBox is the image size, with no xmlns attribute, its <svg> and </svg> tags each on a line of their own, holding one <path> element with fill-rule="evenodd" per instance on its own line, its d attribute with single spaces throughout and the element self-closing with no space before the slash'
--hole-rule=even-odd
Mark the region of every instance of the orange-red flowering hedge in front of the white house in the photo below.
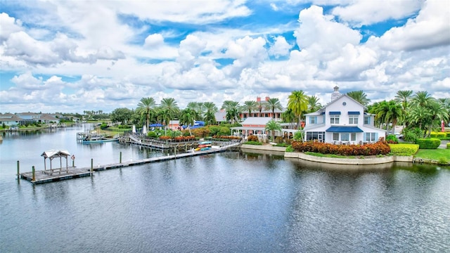
<svg viewBox="0 0 450 253">
<path fill-rule="evenodd" d="M 378 141 L 366 145 L 335 145 L 316 141 L 294 141 L 293 148 L 300 152 L 314 152 L 333 155 L 387 155 L 390 146 L 385 141 Z"/>
</svg>

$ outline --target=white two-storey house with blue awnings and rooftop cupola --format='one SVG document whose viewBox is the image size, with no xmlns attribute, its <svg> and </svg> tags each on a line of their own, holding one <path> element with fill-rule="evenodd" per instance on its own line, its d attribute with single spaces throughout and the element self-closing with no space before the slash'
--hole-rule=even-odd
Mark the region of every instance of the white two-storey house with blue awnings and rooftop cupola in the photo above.
<svg viewBox="0 0 450 253">
<path fill-rule="evenodd" d="M 335 144 L 374 143 L 386 131 L 374 126 L 375 115 L 364 112 L 364 105 L 339 93 L 335 86 L 331 102 L 306 116 L 304 141 Z"/>
</svg>

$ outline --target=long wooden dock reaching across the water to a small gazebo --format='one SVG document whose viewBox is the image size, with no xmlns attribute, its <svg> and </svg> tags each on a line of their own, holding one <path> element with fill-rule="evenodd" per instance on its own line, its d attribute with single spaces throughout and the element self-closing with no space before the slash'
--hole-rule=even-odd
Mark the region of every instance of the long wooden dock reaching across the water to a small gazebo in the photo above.
<svg viewBox="0 0 450 253">
<path fill-rule="evenodd" d="M 78 168 L 78 167 L 68 167 L 68 169 L 63 168 L 61 170 L 53 170 L 52 172 L 49 170 L 39 170 L 34 172 L 34 180 L 33 180 L 33 174 L 32 172 L 25 172 L 20 174 L 21 179 L 26 179 L 27 181 L 30 181 L 31 183 L 50 183 L 54 181 L 61 181 L 61 180 L 67 180 L 67 179 L 77 179 L 79 177 L 83 176 L 92 176 L 92 171 L 103 171 L 105 169 L 116 169 L 116 168 L 122 168 L 122 167 L 129 167 L 134 165 L 141 165 L 141 164 L 148 164 L 152 162 L 162 162 L 167 160 L 175 160 L 175 159 L 181 159 L 184 157 L 194 157 L 199 155 L 209 155 L 213 153 L 220 153 L 224 152 L 229 148 L 233 148 L 237 145 L 240 145 L 240 143 L 233 143 L 230 145 L 226 145 L 220 148 L 212 148 L 210 150 L 203 150 L 203 151 L 194 151 L 189 153 L 179 153 L 175 155 L 165 155 L 161 157 L 152 157 L 147 158 L 143 160 L 136 160 L 136 161 L 129 161 L 129 162 L 122 162 L 122 163 L 113 163 L 113 164 L 104 164 L 104 165 L 98 165 L 94 167 L 84 167 L 84 168 Z"/>
</svg>

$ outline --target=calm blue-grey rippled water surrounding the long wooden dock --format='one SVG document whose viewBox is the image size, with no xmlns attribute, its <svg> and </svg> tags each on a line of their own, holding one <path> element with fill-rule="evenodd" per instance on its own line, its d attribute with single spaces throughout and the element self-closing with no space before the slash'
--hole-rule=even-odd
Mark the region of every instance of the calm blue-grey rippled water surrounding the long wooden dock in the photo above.
<svg viewBox="0 0 450 253">
<path fill-rule="evenodd" d="M 33 186 L 44 150 L 78 166 L 160 152 L 82 145 L 58 129 L 7 134 L 0 144 L 1 252 L 449 252 L 450 170 L 374 170 L 221 153 L 99 171 Z"/>
</svg>

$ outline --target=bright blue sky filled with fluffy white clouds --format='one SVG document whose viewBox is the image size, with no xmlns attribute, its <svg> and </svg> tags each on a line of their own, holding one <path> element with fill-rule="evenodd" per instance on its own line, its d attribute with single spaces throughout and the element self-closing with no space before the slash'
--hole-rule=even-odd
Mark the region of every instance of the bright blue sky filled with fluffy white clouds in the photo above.
<svg viewBox="0 0 450 253">
<path fill-rule="evenodd" d="M 0 0 L 0 112 L 450 98 L 447 0 Z"/>
</svg>

